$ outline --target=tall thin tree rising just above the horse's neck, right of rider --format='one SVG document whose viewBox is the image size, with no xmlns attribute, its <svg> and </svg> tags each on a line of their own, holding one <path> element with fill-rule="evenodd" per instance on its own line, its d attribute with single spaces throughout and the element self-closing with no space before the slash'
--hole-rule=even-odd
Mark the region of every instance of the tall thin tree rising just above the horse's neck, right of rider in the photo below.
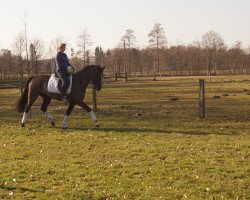
<svg viewBox="0 0 250 200">
<path fill-rule="evenodd" d="M 86 66 L 88 62 L 87 59 L 89 59 L 90 56 L 90 51 L 88 48 L 91 45 L 92 45 L 91 37 L 87 33 L 87 29 L 83 29 L 81 34 L 78 35 L 77 37 L 77 46 L 79 47 L 79 52 L 82 54 L 84 66 Z"/>
</svg>

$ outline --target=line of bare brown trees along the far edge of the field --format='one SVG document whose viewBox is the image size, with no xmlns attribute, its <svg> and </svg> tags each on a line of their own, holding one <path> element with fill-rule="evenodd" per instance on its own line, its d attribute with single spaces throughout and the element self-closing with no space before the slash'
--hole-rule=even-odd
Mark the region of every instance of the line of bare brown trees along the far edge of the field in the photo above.
<svg viewBox="0 0 250 200">
<path fill-rule="evenodd" d="M 26 23 L 25 30 L 26 30 Z M 24 75 L 50 74 L 55 68 L 58 37 L 51 41 L 45 52 L 44 42 L 35 38 L 28 40 L 26 31 L 18 33 L 12 49 L 0 51 L 0 79 L 20 78 Z M 66 42 L 67 43 L 67 42 Z M 136 34 L 128 29 L 119 44 L 103 50 L 92 50 L 92 41 L 87 29 L 77 37 L 77 49 L 70 48 L 68 57 L 76 69 L 89 64 L 106 66 L 110 75 L 126 73 L 157 75 L 215 75 L 250 73 L 250 52 L 236 41 L 228 47 L 215 31 L 208 31 L 199 41 L 189 45 L 167 45 L 167 37 L 160 23 L 155 23 L 148 33 L 148 46 L 136 46 Z M 67 44 L 67 46 L 70 46 Z"/>
</svg>

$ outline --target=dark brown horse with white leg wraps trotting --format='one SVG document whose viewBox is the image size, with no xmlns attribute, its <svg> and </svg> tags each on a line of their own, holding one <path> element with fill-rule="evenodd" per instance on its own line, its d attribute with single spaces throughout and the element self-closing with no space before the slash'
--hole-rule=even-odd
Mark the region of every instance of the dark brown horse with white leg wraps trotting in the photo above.
<svg viewBox="0 0 250 200">
<path fill-rule="evenodd" d="M 62 121 L 64 128 L 68 128 L 68 119 L 75 105 L 78 105 L 85 109 L 92 118 L 95 126 L 99 127 L 99 123 L 94 112 L 83 100 L 85 97 L 87 86 L 90 82 L 93 84 L 97 91 L 101 90 L 101 80 L 103 77 L 104 68 L 105 67 L 101 67 L 100 65 L 89 65 L 72 75 L 73 77 L 71 92 L 66 95 L 69 105 Z M 28 112 L 38 96 L 41 96 L 43 99 L 41 105 L 42 112 L 50 120 L 51 125 L 55 126 L 55 120 L 53 116 L 48 112 L 48 106 L 52 99 L 61 100 L 61 95 L 48 91 L 47 88 L 49 79 L 50 76 L 48 75 L 37 75 L 30 77 L 27 80 L 25 89 L 16 103 L 16 110 L 19 113 L 23 112 L 21 124 L 22 127 L 25 126 L 27 122 Z"/>
</svg>

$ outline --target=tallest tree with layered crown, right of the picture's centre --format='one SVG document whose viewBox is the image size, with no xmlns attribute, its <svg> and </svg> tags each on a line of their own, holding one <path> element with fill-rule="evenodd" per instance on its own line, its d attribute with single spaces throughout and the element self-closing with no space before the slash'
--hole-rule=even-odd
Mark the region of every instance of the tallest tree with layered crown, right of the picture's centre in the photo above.
<svg viewBox="0 0 250 200">
<path fill-rule="evenodd" d="M 156 22 L 153 29 L 148 34 L 149 46 L 151 48 L 156 48 L 156 58 L 157 58 L 157 72 L 160 72 L 160 49 L 166 47 L 167 39 L 164 29 L 161 27 L 161 23 Z"/>
</svg>

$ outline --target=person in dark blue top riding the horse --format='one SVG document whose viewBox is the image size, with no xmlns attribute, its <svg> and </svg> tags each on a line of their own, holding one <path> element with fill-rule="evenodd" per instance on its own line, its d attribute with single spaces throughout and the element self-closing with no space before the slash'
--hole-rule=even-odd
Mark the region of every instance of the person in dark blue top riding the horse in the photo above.
<svg viewBox="0 0 250 200">
<path fill-rule="evenodd" d="M 62 89 L 61 89 L 61 99 L 66 101 L 66 90 L 69 87 L 69 68 L 72 69 L 71 64 L 69 63 L 67 55 L 64 53 L 66 49 L 66 44 L 61 43 L 58 46 L 58 53 L 56 55 L 56 74 L 59 79 L 62 81 Z"/>
</svg>

